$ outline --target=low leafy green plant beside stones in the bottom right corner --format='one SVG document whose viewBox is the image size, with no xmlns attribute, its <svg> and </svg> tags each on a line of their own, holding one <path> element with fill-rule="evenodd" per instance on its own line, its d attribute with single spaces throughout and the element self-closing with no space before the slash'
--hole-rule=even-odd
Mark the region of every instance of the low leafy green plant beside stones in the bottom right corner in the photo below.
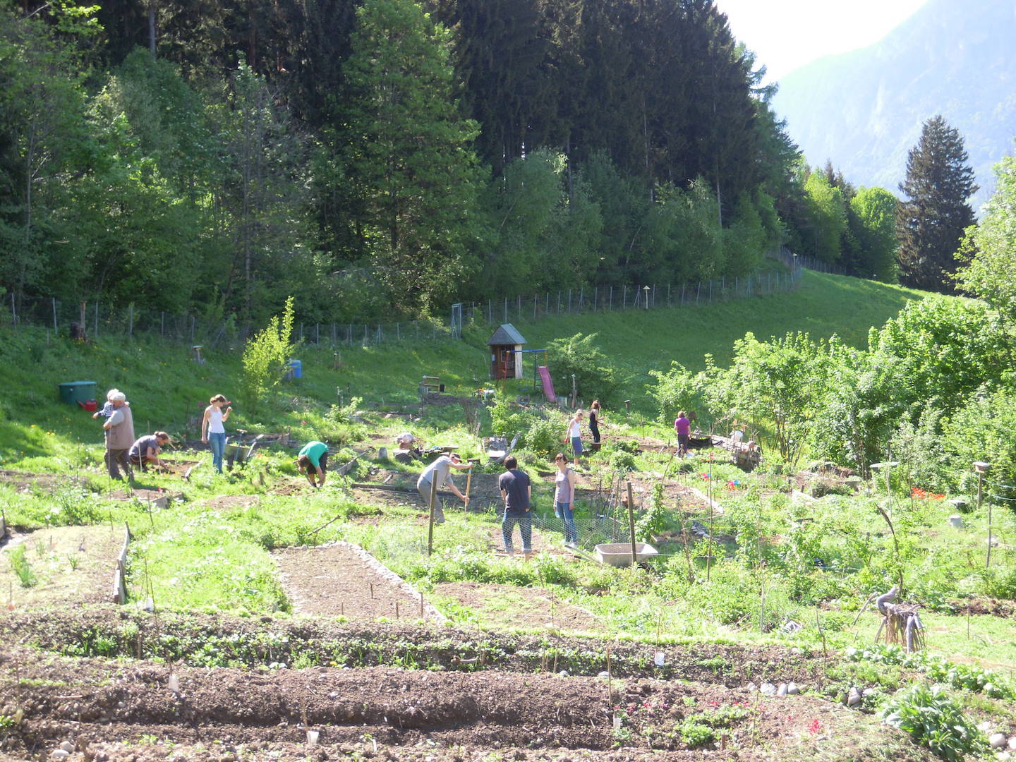
<svg viewBox="0 0 1016 762">
<path fill-rule="evenodd" d="M 949 762 L 989 751 L 988 739 L 942 686 L 920 683 L 897 693 L 882 710 L 882 721 Z"/>
</svg>

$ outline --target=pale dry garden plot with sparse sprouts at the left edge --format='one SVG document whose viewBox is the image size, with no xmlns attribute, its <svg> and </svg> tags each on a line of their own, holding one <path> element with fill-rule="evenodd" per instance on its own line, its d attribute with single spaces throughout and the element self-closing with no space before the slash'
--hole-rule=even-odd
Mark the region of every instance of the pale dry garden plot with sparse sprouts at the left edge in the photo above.
<svg viewBox="0 0 1016 762">
<path fill-rule="evenodd" d="M 122 525 L 59 526 L 14 533 L 0 554 L 0 607 L 77 607 L 108 601 Z"/>
</svg>

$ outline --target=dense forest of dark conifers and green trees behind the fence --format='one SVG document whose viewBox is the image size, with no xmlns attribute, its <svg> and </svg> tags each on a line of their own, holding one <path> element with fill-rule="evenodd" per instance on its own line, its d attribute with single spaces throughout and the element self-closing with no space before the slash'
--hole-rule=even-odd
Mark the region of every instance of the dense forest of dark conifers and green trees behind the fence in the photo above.
<svg viewBox="0 0 1016 762">
<path fill-rule="evenodd" d="M 895 279 L 896 198 L 763 76 L 710 0 L 0 0 L 0 288 L 343 321 L 779 245 Z"/>
</svg>

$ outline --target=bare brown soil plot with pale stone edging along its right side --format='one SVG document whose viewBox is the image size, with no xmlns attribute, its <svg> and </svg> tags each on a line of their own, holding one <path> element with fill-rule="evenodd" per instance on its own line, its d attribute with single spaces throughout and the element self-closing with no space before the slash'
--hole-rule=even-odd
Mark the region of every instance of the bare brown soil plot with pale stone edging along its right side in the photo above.
<svg viewBox="0 0 1016 762">
<path fill-rule="evenodd" d="M 362 548 L 334 543 L 273 554 L 282 587 L 295 611 L 374 621 L 444 617 L 423 596 Z"/>
</svg>

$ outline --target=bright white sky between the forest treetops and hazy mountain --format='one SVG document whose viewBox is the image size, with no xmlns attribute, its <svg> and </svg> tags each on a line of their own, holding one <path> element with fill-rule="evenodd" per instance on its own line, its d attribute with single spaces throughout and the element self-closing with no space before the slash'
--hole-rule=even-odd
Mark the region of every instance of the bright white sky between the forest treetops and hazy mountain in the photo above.
<svg viewBox="0 0 1016 762">
<path fill-rule="evenodd" d="M 927 0 L 716 0 L 769 79 L 878 42 Z"/>
</svg>

